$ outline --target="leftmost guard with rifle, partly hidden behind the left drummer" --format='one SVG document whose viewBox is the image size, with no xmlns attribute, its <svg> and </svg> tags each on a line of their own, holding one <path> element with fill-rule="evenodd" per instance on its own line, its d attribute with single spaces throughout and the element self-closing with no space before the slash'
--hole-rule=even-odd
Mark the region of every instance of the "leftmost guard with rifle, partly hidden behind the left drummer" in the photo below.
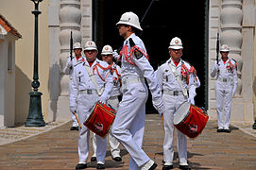
<svg viewBox="0 0 256 170">
<path fill-rule="evenodd" d="M 66 66 L 63 70 L 64 74 L 69 75 L 70 81 L 69 81 L 69 88 L 70 83 L 72 79 L 73 74 L 73 68 L 80 62 L 84 62 L 84 57 L 81 55 L 82 47 L 80 42 L 75 42 L 73 45 L 75 57 L 72 57 L 72 59 L 69 57 L 66 62 Z M 70 91 L 69 91 L 70 93 Z M 78 123 L 75 114 L 71 113 L 72 118 L 72 127 L 70 127 L 70 130 L 78 130 Z"/>
</svg>

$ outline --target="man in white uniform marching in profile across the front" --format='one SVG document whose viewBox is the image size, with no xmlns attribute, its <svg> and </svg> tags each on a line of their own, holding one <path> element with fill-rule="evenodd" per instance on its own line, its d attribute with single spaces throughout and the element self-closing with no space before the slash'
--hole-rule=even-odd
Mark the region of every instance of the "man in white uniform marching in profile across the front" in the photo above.
<svg viewBox="0 0 256 170">
<path fill-rule="evenodd" d="M 134 33 L 136 29 L 142 31 L 138 16 L 133 12 L 126 12 L 116 25 L 120 36 L 125 39 L 120 56 L 113 52 L 113 57 L 121 59 L 122 62 L 123 98 L 112 125 L 112 134 L 128 150 L 130 170 L 153 170 L 157 164 L 150 160 L 142 149 L 145 102 L 148 95 L 145 78 L 152 93 L 153 106 L 160 114 L 164 110 L 161 91 L 147 59 L 144 42 Z"/>
</svg>

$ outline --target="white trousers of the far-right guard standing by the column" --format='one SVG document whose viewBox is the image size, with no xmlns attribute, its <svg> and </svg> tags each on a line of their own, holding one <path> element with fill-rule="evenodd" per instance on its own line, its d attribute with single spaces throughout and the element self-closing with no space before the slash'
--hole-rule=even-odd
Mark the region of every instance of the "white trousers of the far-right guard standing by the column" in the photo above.
<svg viewBox="0 0 256 170">
<path fill-rule="evenodd" d="M 232 98 L 232 85 L 229 82 L 220 82 L 216 80 L 215 93 L 216 93 L 216 108 L 218 117 L 218 127 L 230 127 L 230 108 Z M 222 110 L 224 107 L 224 122 Z"/>
</svg>

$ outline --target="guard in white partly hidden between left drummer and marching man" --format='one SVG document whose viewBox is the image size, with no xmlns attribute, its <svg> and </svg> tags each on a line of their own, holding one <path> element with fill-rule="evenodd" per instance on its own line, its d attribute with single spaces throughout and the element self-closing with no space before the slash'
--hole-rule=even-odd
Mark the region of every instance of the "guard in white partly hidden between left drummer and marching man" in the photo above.
<svg viewBox="0 0 256 170">
<path fill-rule="evenodd" d="M 115 64 L 113 62 L 113 57 L 112 57 L 112 47 L 111 45 L 105 45 L 102 48 L 102 52 L 101 52 L 101 57 L 102 60 L 105 60 L 106 62 L 108 62 L 111 66 L 111 75 L 113 77 L 113 89 L 111 92 L 111 97 L 109 98 L 109 100 L 107 101 L 107 104 L 111 105 L 111 107 L 114 110 L 118 110 L 119 107 L 119 100 L 118 100 L 118 96 L 121 95 L 120 92 L 120 87 L 121 87 L 121 79 L 120 79 L 120 74 L 121 74 L 121 68 L 119 67 L 119 65 Z M 95 138 L 93 138 L 93 148 L 94 148 L 94 155 L 91 158 L 91 161 L 94 161 L 94 157 L 95 157 L 95 151 L 96 151 L 96 144 L 95 144 Z M 110 142 L 110 146 L 111 146 L 111 156 L 112 159 L 114 161 L 122 161 L 122 158 L 120 156 L 120 149 L 119 149 L 119 142 L 116 140 L 115 137 L 113 137 L 112 133 L 111 133 L 111 129 L 110 129 L 110 133 L 109 133 L 109 142 Z M 96 160 L 96 159 L 95 159 Z"/>
</svg>

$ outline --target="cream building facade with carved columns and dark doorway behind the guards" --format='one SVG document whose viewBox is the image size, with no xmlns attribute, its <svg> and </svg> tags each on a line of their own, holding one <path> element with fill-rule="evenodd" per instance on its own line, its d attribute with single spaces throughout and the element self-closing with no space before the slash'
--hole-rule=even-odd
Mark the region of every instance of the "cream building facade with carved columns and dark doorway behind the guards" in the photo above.
<svg viewBox="0 0 256 170">
<path fill-rule="evenodd" d="M 62 69 L 69 57 L 71 31 L 74 42 L 83 45 L 87 40 L 94 40 L 99 51 L 106 43 L 116 49 L 122 43 L 115 26 L 121 14 L 132 10 L 142 19 L 145 11 L 140 7 L 148 7 L 150 3 L 146 0 L 132 2 L 128 5 L 116 0 L 43 0 L 40 4 L 43 13 L 39 17 L 39 76 L 45 122 L 70 119 L 69 76 L 64 75 Z M 30 13 L 33 3 L 19 0 L 3 0 L 1 3 L 0 13 L 13 21 L 23 34 L 23 41 L 16 44 L 15 62 L 15 110 L 20 110 L 15 111 L 15 122 L 23 122 L 28 112 L 30 88 L 27 87 L 32 81 L 33 48 L 27 46 L 33 44 L 33 16 Z M 9 10 L 17 8 L 14 3 L 18 3 L 19 8 L 26 6 L 21 15 L 13 15 Z M 167 8 L 171 6 L 177 9 Z M 238 63 L 239 85 L 232 100 L 231 121 L 252 124 L 256 117 L 255 0 L 156 1 L 148 11 L 142 21 L 142 38 L 151 56 L 150 62 L 156 68 L 166 59 L 170 40 L 179 36 L 184 43 L 184 56 L 196 64 L 202 82 L 202 87 L 196 90 L 196 103 L 206 107 L 212 119 L 216 119 L 215 79 L 210 76 L 210 71 L 216 58 L 216 35 L 219 32 L 220 44 L 230 46 L 230 57 Z M 173 23 L 174 20 L 179 24 Z M 157 55 L 162 58 L 156 59 Z M 22 102 L 25 95 L 27 102 Z"/>
</svg>

